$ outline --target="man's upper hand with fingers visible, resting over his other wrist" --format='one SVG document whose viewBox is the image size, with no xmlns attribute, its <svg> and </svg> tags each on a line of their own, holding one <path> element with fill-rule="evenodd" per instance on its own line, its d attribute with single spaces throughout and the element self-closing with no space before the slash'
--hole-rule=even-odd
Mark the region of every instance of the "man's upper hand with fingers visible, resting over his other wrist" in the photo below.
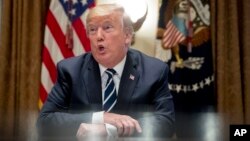
<svg viewBox="0 0 250 141">
<path fill-rule="evenodd" d="M 135 131 L 142 132 L 138 121 L 127 115 L 119 115 L 105 112 L 104 123 L 109 123 L 117 128 L 119 136 L 131 136 Z"/>
</svg>

